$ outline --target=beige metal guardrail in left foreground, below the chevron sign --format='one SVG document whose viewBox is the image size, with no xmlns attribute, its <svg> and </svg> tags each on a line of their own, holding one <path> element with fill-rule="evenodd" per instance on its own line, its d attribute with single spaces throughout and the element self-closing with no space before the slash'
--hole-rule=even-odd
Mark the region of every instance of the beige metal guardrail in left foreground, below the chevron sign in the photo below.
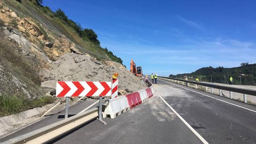
<svg viewBox="0 0 256 144">
<path fill-rule="evenodd" d="M 33 132 L 4 141 L 1 144 L 44 144 L 78 128 L 92 119 L 96 119 L 97 117 L 98 108 L 95 107 L 81 114 L 39 128 Z"/>
</svg>

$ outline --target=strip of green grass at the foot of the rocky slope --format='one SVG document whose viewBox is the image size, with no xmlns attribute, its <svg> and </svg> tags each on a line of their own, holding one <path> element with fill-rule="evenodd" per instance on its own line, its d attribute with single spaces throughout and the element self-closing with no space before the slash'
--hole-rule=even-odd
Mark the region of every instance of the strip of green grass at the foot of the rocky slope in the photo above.
<svg viewBox="0 0 256 144">
<path fill-rule="evenodd" d="M 54 98 L 51 96 L 27 99 L 24 95 L 0 95 L 0 116 L 17 114 L 21 111 L 42 107 L 53 102 Z"/>
</svg>

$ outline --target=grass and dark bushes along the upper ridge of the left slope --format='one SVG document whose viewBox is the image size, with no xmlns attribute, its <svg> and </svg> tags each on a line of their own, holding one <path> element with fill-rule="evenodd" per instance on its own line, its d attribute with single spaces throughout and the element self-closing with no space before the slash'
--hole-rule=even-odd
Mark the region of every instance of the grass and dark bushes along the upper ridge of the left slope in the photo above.
<svg viewBox="0 0 256 144">
<path fill-rule="evenodd" d="M 42 6 L 43 0 L 4 0 L 4 4 L 12 8 L 21 17 L 30 16 L 39 21 L 46 28 L 56 33 L 64 34 L 71 41 L 79 45 L 83 53 L 89 53 L 98 60 L 110 58 L 112 61 L 123 63 L 111 51 L 106 52 L 100 46 L 97 34 L 92 29 L 83 29 L 79 23 L 70 20 L 65 13 L 58 9 L 53 12 L 49 7 Z"/>
</svg>

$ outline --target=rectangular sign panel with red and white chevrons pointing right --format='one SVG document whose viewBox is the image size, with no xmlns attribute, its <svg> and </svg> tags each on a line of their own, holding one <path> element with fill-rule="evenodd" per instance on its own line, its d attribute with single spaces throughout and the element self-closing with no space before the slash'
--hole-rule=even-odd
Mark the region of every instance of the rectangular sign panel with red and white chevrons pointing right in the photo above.
<svg viewBox="0 0 256 144">
<path fill-rule="evenodd" d="M 111 96 L 111 82 L 63 82 L 56 85 L 57 97 Z"/>
</svg>

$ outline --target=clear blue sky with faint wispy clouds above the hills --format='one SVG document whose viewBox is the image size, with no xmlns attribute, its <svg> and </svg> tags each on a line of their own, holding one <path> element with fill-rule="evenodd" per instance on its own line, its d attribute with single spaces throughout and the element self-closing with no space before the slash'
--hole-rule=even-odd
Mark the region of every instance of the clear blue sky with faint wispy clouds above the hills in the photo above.
<svg viewBox="0 0 256 144">
<path fill-rule="evenodd" d="M 144 74 L 256 63 L 255 0 L 44 0 Z"/>
</svg>

